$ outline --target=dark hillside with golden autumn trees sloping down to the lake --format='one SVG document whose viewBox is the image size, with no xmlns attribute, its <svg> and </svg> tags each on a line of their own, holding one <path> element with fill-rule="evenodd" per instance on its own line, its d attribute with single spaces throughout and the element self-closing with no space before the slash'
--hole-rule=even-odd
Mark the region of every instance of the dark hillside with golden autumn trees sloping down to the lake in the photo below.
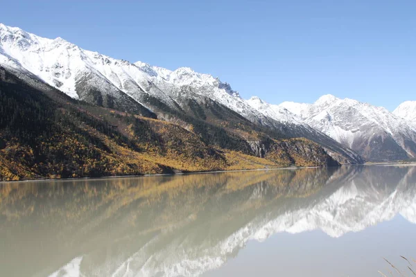
<svg viewBox="0 0 416 277">
<path fill-rule="evenodd" d="M 73 100 L 1 68 L 0 179 L 338 165 L 306 139 L 279 139 L 238 120 L 209 122 L 216 109 L 207 103 L 195 110 L 205 118 L 173 123 Z"/>
</svg>

